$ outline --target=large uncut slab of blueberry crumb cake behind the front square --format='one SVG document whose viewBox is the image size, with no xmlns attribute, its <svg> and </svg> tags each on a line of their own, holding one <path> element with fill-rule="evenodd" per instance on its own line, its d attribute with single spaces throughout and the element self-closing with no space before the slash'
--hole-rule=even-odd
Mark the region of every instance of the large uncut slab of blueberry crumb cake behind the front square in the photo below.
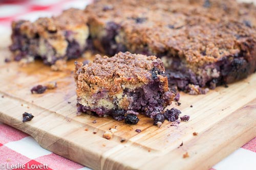
<svg viewBox="0 0 256 170">
<path fill-rule="evenodd" d="M 205 87 L 256 70 L 255 11 L 254 5 L 235 0 L 102 0 L 85 9 L 100 52 L 160 57 L 169 86 L 189 94 L 205 94 Z"/>
</svg>

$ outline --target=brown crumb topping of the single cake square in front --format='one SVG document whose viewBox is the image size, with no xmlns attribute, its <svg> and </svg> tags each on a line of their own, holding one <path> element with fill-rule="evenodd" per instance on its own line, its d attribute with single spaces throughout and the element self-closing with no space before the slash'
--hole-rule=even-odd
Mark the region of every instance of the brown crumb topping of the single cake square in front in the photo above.
<svg viewBox="0 0 256 170">
<path fill-rule="evenodd" d="M 160 59 L 155 56 L 118 53 L 109 58 L 96 55 L 93 62 L 83 65 L 76 63 L 75 79 L 79 92 L 94 94 L 104 88 L 110 95 L 124 88 L 137 88 L 159 78 L 163 91 L 168 91 L 167 77 Z"/>
</svg>

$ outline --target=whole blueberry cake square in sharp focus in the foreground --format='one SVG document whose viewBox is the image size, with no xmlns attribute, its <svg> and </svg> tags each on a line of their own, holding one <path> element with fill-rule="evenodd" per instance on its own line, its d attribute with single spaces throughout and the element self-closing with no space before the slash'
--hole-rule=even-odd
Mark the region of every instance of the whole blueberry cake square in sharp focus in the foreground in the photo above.
<svg viewBox="0 0 256 170">
<path fill-rule="evenodd" d="M 93 62 L 76 62 L 78 112 L 95 112 L 122 120 L 141 112 L 154 118 L 172 103 L 163 62 L 155 56 L 118 53 L 96 55 Z"/>
</svg>

